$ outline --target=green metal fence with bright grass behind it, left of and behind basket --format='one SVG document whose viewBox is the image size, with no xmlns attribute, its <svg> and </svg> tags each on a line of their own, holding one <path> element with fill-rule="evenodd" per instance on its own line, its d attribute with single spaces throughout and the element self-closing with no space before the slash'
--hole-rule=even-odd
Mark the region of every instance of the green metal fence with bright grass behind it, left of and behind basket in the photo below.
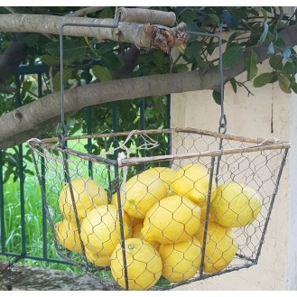
<svg viewBox="0 0 297 297">
<path fill-rule="evenodd" d="M 23 104 L 23 97 L 21 93 L 22 82 L 23 78 L 28 75 L 37 76 L 37 96 L 39 98 L 44 96 L 47 91 L 44 89 L 47 72 L 48 68 L 41 64 L 34 66 L 23 65 L 15 72 L 14 81 L 16 93 L 14 98 L 14 107 L 21 107 Z M 145 116 L 148 108 L 146 104 L 146 98 L 140 98 L 134 100 L 134 102 L 135 108 L 138 108 L 139 112 L 139 121 L 136 123 L 138 125 L 137 128 L 140 130 L 149 128 L 148 119 L 147 116 Z M 162 102 L 162 126 L 164 128 L 168 128 L 170 127 L 170 96 L 168 95 L 164 97 Z M 107 105 L 107 108 L 109 109 L 108 112 L 112 114 L 111 130 L 113 132 L 118 131 L 119 128 L 117 115 L 118 104 L 119 103 L 112 102 Z M 94 107 L 85 108 L 87 134 L 98 133 L 98 131 L 94 131 L 95 127 L 92 125 L 93 110 Z M 150 125 L 152 125 L 152 117 L 149 120 L 151 123 Z M 128 131 L 130 127 L 125 126 L 124 129 Z M 91 149 L 91 145 L 91 140 L 89 139 L 89 149 Z M 28 189 L 37 189 L 38 181 L 37 177 L 33 176 L 32 173 L 30 175 L 28 172 L 26 172 L 28 163 L 29 165 L 31 163 L 30 158 L 26 154 L 28 151 L 27 144 L 17 145 L 15 147 L 15 151 L 17 152 L 17 158 L 15 162 L 15 166 L 18 169 L 17 176 L 14 182 L 11 181 L 11 178 L 8 181 L 14 185 L 13 188 L 16 190 L 7 190 L 6 183 L 8 181 L 5 178 L 5 171 L 7 170 L 5 167 L 5 152 L 0 150 L 0 259 L 1 257 L 3 259 L 8 258 L 10 261 L 31 259 L 32 261 L 37 261 L 38 263 L 43 262 L 46 264 L 51 262 L 57 264 L 66 264 L 66 262 L 60 259 L 60 256 L 55 254 L 53 251 L 50 229 L 48 227 L 40 190 L 33 190 L 33 195 L 35 193 L 36 195 L 33 197 L 33 200 L 32 198 L 29 199 L 30 195 L 28 193 Z M 44 166 L 40 168 L 40 171 L 42 172 L 42 176 L 44 176 Z M 92 176 L 91 163 L 89 163 L 88 172 L 89 176 Z M 46 183 L 47 181 L 45 181 L 43 178 L 42 186 L 44 189 L 46 188 Z M 29 200 L 32 200 L 32 202 Z M 29 205 L 30 203 L 31 205 Z M 39 222 L 37 222 L 37 219 L 32 213 L 34 212 L 32 210 L 32 204 L 34 204 L 35 212 L 39 213 Z M 27 226 L 28 221 L 30 221 L 30 216 L 36 220 L 36 222 L 33 221 L 32 227 L 30 227 L 31 225 Z M 11 224 L 8 224 L 7 222 L 14 222 L 14 227 L 11 227 Z M 17 229 L 17 232 L 15 229 Z M 32 233 L 35 235 L 35 237 L 39 237 L 37 249 L 32 249 L 34 242 L 37 242 L 32 236 Z M 29 237 L 30 240 L 28 239 Z M 14 259 L 12 257 L 14 257 Z"/>
</svg>

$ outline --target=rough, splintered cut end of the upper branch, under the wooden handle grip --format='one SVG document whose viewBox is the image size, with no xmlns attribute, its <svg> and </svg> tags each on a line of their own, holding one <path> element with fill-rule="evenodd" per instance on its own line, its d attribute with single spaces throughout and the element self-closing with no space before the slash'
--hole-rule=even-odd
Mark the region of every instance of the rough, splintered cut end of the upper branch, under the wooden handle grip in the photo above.
<svg viewBox="0 0 297 297">
<path fill-rule="evenodd" d="M 165 52 L 171 51 L 174 46 L 185 45 L 187 34 L 182 32 L 186 28 L 185 23 L 180 23 L 176 28 L 168 28 L 151 23 L 144 24 L 144 33 L 151 40 L 151 47 Z"/>
</svg>

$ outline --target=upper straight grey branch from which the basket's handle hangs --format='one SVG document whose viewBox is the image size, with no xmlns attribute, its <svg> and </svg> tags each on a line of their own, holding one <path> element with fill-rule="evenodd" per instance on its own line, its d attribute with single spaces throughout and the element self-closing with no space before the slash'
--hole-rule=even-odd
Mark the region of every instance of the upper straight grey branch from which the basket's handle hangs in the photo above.
<svg viewBox="0 0 297 297">
<path fill-rule="evenodd" d="M 41 23 L 43 24 L 41 26 Z M 63 23 L 89 25 L 114 26 L 114 19 L 95 19 L 88 17 L 71 17 L 56 16 L 44 14 L 1 14 L 0 15 L 0 31 L 2 32 L 39 32 L 47 34 L 59 34 L 60 27 Z M 152 30 L 147 30 L 148 26 Z M 181 24 L 179 28 L 181 27 Z M 166 30 L 171 32 L 174 38 L 177 37 L 176 28 L 164 28 L 163 26 L 142 23 L 118 23 L 117 28 L 103 27 L 79 27 L 67 25 L 63 28 L 63 34 L 68 36 L 94 37 L 97 40 L 112 40 L 116 42 L 134 43 L 139 49 L 152 48 L 152 44 L 156 44 L 155 38 L 158 32 Z M 166 39 L 166 34 L 164 34 Z M 167 37 L 168 39 L 168 37 Z M 161 49 L 163 50 L 163 49 Z"/>
</svg>

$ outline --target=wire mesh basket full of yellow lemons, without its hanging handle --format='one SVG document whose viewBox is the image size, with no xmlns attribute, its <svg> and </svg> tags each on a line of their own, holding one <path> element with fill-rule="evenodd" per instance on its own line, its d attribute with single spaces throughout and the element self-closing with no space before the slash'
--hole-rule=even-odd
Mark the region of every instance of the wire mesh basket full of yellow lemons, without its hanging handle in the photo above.
<svg viewBox="0 0 297 297">
<path fill-rule="evenodd" d="M 114 290 L 168 290 L 256 265 L 289 143 L 194 128 L 65 140 L 29 144 L 70 264 Z"/>
</svg>

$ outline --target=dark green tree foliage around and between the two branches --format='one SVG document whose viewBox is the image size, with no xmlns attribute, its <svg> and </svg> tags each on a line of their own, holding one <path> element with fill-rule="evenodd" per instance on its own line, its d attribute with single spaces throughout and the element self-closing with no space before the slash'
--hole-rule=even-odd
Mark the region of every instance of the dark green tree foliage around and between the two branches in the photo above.
<svg viewBox="0 0 297 297">
<path fill-rule="evenodd" d="M 79 10 L 81 7 L 14 7 L 15 13 L 21 14 L 53 14 L 66 15 Z M 223 68 L 229 70 L 245 59 L 246 81 L 240 82 L 235 78 L 230 83 L 235 92 L 238 87 L 245 86 L 252 81 L 255 88 L 278 81 L 285 93 L 297 92 L 295 73 L 297 70 L 296 52 L 288 47 L 279 33 L 295 22 L 294 15 L 283 14 L 279 7 L 153 7 L 163 11 L 173 11 L 177 16 L 177 23 L 187 23 L 191 32 L 224 33 Z M 8 14 L 5 7 L 0 8 L 0 14 Z M 115 7 L 106 7 L 88 17 L 113 18 Z M 0 51 L 3 52 L 14 40 L 15 33 L 0 33 Z M 116 77 L 119 70 L 125 67 L 125 55 L 131 49 L 131 44 L 113 41 L 98 42 L 93 38 L 64 36 L 64 88 L 83 85 L 95 80 L 106 81 Z M 51 93 L 51 89 L 60 90 L 60 44 L 57 36 L 28 33 L 23 39 L 27 49 L 29 65 L 42 62 L 49 66 L 49 72 L 43 75 L 43 94 Z M 256 49 L 265 45 L 269 54 L 271 71 L 259 73 L 257 67 Z M 135 60 L 129 77 L 146 76 L 160 73 L 181 72 L 187 70 L 211 70 L 218 67 L 218 39 L 215 37 L 190 36 L 185 48 L 179 48 L 174 54 L 174 60 L 162 51 L 141 50 Z M 251 50 L 245 56 L 245 51 Z M 172 63 L 172 65 L 171 65 Z M 50 80 L 50 74 L 52 80 Z M 15 87 L 14 79 L 5 81 L 6 85 Z M 15 95 L 0 94 L 0 114 L 13 110 L 19 104 L 27 104 L 38 99 L 37 77 L 21 76 L 21 103 L 16 102 Z M 215 101 L 220 104 L 218 90 L 213 92 Z M 144 128 L 140 122 L 141 110 L 146 120 L 145 128 L 160 128 L 165 124 L 166 99 L 162 97 L 148 97 L 116 104 L 102 104 L 81 110 L 68 121 L 70 134 L 97 133 L 111 130 L 133 130 Z M 143 109 L 142 109 L 143 108 Z M 87 117 L 90 121 L 87 121 Z M 91 123 L 91 125 L 89 124 Z M 47 135 L 53 135 L 49 132 Z M 30 161 L 30 155 L 25 155 Z M 5 181 L 10 174 L 17 178 L 18 148 L 6 150 L 3 154 L 6 166 Z M 27 171 L 26 173 L 30 173 Z"/>
</svg>

